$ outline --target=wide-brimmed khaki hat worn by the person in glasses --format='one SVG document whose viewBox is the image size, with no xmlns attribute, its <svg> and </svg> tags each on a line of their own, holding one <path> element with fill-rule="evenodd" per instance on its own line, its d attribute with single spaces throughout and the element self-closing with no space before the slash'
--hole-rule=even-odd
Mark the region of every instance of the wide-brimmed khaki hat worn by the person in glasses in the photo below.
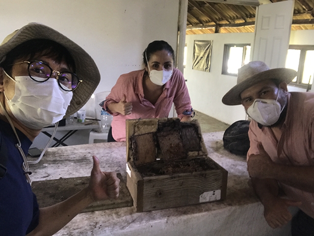
<svg viewBox="0 0 314 236">
<path fill-rule="evenodd" d="M 31 39 L 50 39 L 65 47 L 71 54 L 76 65 L 76 75 L 82 82 L 73 91 L 73 98 L 68 106 L 65 117 L 77 112 L 87 103 L 100 81 L 100 73 L 92 57 L 72 40 L 51 27 L 30 23 L 8 35 L 0 45 L 0 62 L 5 55 Z"/>
</svg>

